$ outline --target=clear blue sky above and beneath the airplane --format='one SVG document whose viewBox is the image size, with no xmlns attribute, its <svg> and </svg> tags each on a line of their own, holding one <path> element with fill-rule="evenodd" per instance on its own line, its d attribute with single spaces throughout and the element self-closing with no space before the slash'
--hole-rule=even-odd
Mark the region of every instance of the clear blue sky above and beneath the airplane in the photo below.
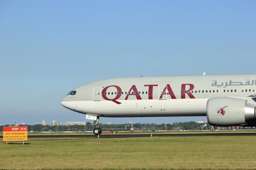
<svg viewBox="0 0 256 170">
<path fill-rule="evenodd" d="M 255 0 L 1 0 L 0 124 L 84 121 L 59 102 L 98 79 L 256 73 L 255 61 Z"/>
</svg>

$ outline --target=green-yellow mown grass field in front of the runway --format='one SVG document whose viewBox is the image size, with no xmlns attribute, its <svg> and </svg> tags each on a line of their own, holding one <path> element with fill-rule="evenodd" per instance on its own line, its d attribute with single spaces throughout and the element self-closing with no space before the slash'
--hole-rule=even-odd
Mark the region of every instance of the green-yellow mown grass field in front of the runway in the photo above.
<svg viewBox="0 0 256 170">
<path fill-rule="evenodd" d="M 31 138 L 29 144 L 16 143 L 0 143 L 0 169 L 256 169 L 255 136 Z"/>
</svg>

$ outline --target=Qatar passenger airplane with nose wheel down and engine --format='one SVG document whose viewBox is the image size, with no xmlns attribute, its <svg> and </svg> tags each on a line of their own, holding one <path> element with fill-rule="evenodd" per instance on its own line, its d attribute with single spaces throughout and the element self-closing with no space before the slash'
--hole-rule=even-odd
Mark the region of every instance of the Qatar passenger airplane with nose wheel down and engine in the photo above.
<svg viewBox="0 0 256 170">
<path fill-rule="evenodd" d="M 256 126 L 256 74 L 120 77 L 80 85 L 61 104 L 99 117 L 206 116 L 213 126 Z"/>
</svg>

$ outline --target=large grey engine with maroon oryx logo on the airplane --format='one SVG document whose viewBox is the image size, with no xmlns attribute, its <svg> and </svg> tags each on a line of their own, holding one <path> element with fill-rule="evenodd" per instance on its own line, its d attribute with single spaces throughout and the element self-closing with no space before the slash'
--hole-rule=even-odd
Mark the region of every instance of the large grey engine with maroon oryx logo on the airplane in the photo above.
<svg viewBox="0 0 256 170">
<path fill-rule="evenodd" d="M 208 123 L 213 126 L 250 126 L 255 122 L 256 107 L 245 99 L 218 97 L 207 102 Z"/>
</svg>

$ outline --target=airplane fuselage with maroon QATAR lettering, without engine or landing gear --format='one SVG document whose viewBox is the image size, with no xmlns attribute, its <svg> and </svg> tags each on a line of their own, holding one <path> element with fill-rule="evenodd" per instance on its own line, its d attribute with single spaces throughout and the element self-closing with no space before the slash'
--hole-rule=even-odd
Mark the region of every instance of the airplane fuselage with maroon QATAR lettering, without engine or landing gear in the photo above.
<svg viewBox="0 0 256 170">
<path fill-rule="evenodd" d="M 206 116 L 215 97 L 256 104 L 255 89 L 256 74 L 112 78 L 75 88 L 61 104 L 99 117 Z"/>
</svg>

